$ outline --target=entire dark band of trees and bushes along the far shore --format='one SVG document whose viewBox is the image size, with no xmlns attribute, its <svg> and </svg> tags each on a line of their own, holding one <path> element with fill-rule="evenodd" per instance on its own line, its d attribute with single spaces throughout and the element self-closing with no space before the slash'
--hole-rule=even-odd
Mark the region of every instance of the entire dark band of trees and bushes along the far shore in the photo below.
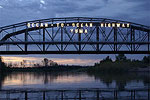
<svg viewBox="0 0 150 100">
<path fill-rule="evenodd" d="M 52 60 L 44 58 L 42 64 L 33 64 L 32 67 L 25 67 L 26 61 L 20 63 L 21 67 L 16 67 L 16 64 L 6 64 L 0 57 L 0 73 L 4 72 L 61 72 L 61 71 L 75 71 L 88 73 L 123 73 L 123 72 L 149 72 L 150 71 L 150 56 L 144 56 L 142 60 L 127 59 L 124 54 L 118 54 L 115 61 L 109 56 L 95 63 L 94 66 L 79 66 L 79 65 L 58 65 Z M 17 65 L 18 66 L 18 65 Z"/>
</svg>

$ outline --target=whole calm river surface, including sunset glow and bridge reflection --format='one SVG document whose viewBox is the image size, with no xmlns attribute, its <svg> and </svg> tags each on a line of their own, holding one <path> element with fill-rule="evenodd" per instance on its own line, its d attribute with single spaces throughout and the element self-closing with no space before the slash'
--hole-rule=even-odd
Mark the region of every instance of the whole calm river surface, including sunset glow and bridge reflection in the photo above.
<svg viewBox="0 0 150 100">
<path fill-rule="evenodd" d="M 149 79 L 149 73 L 11 72 L 0 76 L 0 100 L 148 100 Z"/>
</svg>

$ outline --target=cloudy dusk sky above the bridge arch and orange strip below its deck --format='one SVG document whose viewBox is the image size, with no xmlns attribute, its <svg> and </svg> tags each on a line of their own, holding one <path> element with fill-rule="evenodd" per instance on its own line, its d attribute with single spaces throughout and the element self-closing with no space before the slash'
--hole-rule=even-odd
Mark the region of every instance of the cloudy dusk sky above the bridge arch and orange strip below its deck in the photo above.
<svg viewBox="0 0 150 100">
<path fill-rule="evenodd" d="M 150 26 L 150 0 L 0 0 L 0 27 L 29 20 L 56 17 L 98 17 L 119 19 Z M 22 59 L 44 57 L 61 64 L 92 65 L 107 55 L 26 55 Z M 115 55 L 110 55 L 113 59 Z M 142 59 L 144 55 L 127 55 Z M 16 55 L 4 60 L 18 59 Z M 25 58 L 24 58 L 25 57 Z"/>
</svg>

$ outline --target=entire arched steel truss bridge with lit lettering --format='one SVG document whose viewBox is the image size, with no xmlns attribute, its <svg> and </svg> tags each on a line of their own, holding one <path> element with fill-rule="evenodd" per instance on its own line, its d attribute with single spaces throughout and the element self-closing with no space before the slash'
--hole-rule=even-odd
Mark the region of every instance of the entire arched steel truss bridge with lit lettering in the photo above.
<svg viewBox="0 0 150 100">
<path fill-rule="evenodd" d="M 0 27 L 0 54 L 119 53 L 150 54 L 150 27 L 88 17 L 50 18 Z"/>
</svg>

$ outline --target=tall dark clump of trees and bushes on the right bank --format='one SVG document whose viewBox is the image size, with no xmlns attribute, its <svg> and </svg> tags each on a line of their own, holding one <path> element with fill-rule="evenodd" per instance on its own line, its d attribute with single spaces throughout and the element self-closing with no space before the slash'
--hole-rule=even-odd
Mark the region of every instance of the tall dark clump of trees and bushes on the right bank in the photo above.
<svg viewBox="0 0 150 100">
<path fill-rule="evenodd" d="M 116 56 L 113 61 L 109 56 L 95 63 L 94 67 L 90 67 L 88 72 L 129 72 L 129 71 L 148 71 L 150 67 L 150 56 L 144 56 L 142 60 L 127 59 L 124 54 Z M 141 69 L 141 70 L 140 70 Z"/>
</svg>

